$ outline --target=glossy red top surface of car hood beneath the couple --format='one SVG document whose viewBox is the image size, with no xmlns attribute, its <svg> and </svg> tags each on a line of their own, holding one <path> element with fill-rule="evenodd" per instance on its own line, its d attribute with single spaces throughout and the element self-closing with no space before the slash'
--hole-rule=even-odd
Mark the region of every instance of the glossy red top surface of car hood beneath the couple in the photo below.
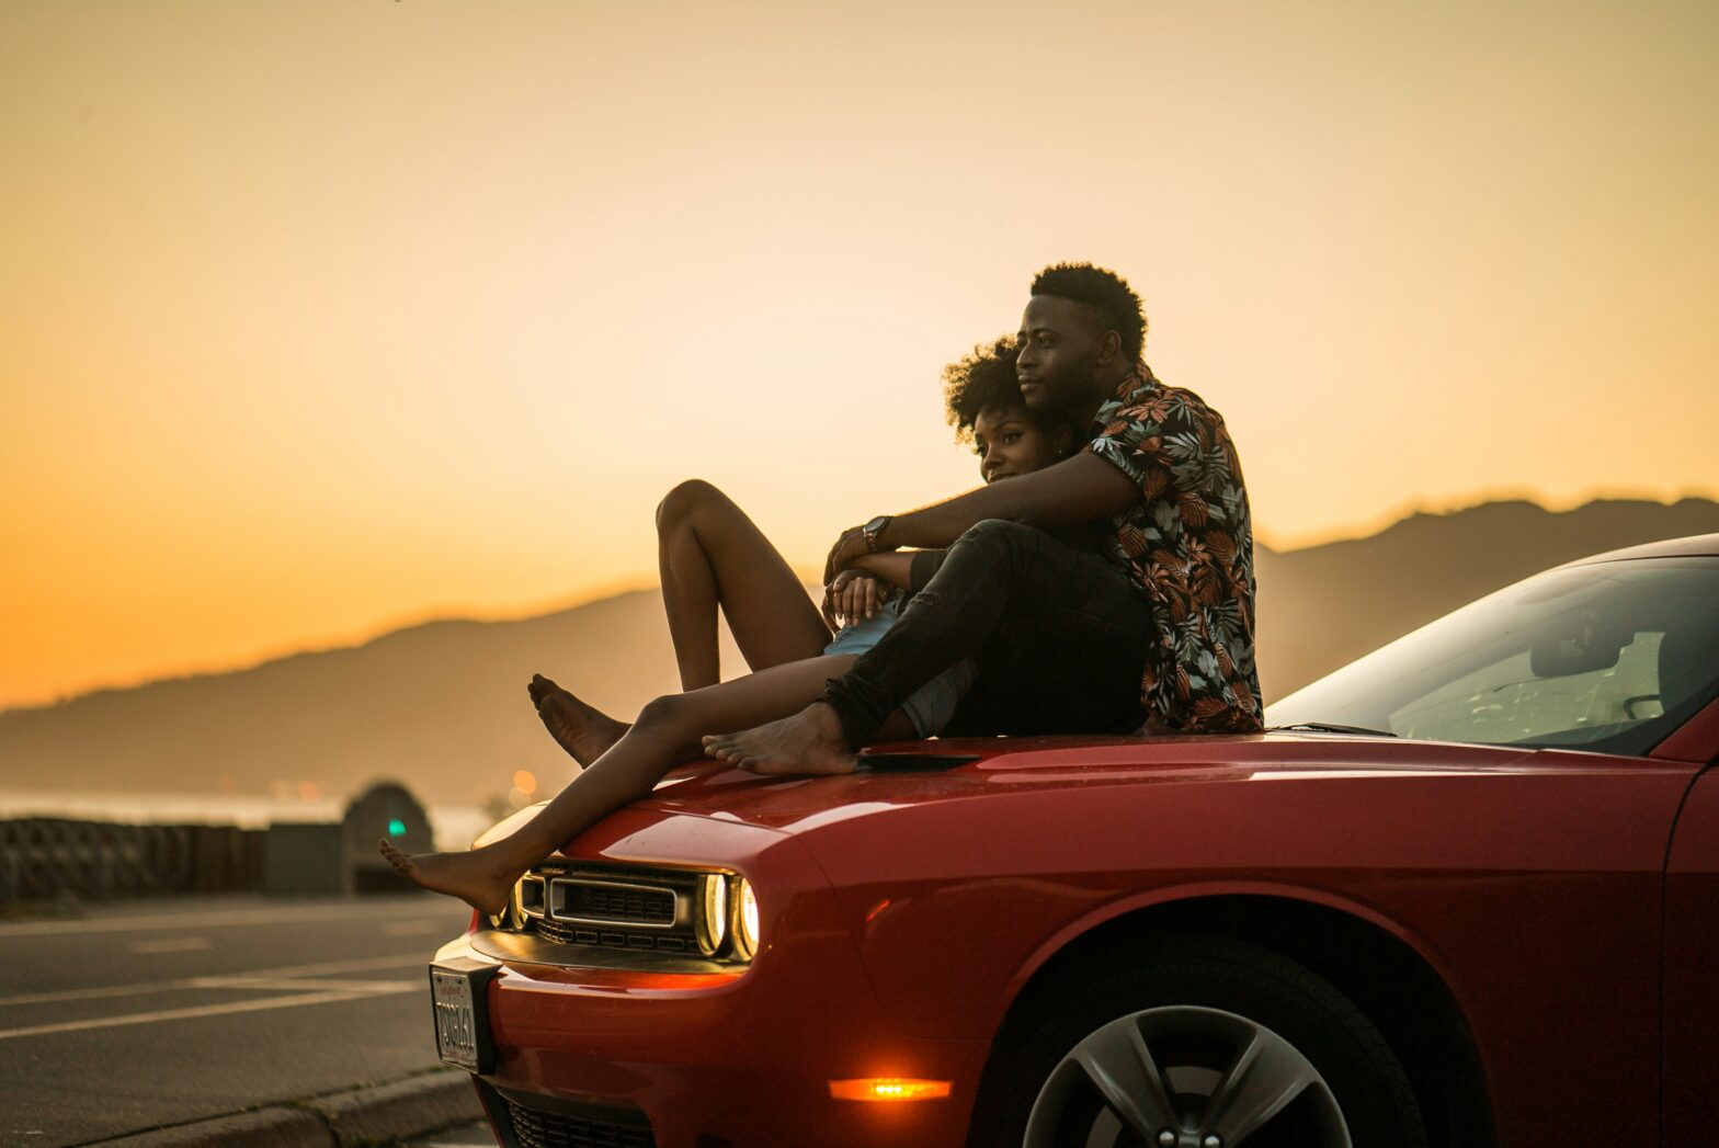
<svg viewBox="0 0 1719 1148">
<path fill-rule="evenodd" d="M 985 737 L 882 746 L 841 777 L 682 766 L 634 808 L 796 832 L 906 806 L 1023 789 L 1178 785 L 1520 768 L 1532 751 L 1334 734 Z"/>
</svg>

